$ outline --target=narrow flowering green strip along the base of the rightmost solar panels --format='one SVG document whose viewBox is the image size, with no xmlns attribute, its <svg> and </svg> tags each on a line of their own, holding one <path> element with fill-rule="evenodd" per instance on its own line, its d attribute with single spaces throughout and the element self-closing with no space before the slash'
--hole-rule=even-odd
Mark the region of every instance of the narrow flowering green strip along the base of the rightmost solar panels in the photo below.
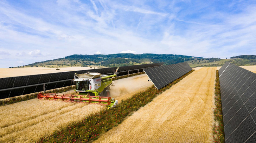
<svg viewBox="0 0 256 143">
<path fill-rule="evenodd" d="M 213 125 L 213 142 L 215 143 L 225 143 L 225 134 L 223 126 L 223 115 L 222 115 L 222 105 L 220 97 L 220 86 L 219 86 L 219 71 L 216 70 L 216 83 L 215 83 L 215 106 L 214 108 L 214 120 L 218 122 Z"/>
</svg>

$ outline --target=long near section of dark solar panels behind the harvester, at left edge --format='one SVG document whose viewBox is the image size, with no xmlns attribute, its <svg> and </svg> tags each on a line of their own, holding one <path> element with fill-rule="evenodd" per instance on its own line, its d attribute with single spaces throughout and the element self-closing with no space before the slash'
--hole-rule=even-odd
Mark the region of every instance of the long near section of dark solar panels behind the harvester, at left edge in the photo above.
<svg viewBox="0 0 256 143">
<path fill-rule="evenodd" d="M 75 73 L 81 74 L 86 72 L 98 72 L 102 74 L 115 73 L 117 67 L 109 67 L 102 69 L 90 69 L 90 70 L 80 70 L 80 71 L 69 71 L 69 72 L 59 72 L 59 73 L 47 73 L 47 74 L 36 74 L 30 76 L 20 76 L 20 77 L 9 77 L 0 78 L 0 90 L 6 88 L 35 85 L 45 83 L 45 90 L 52 90 L 55 88 L 66 87 L 71 85 L 71 79 L 74 78 Z M 61 81 L 68 80 L 70 81 Z M 58 83 L 47 84 L 49 82 L 59 81 Z M 7 91 L 0 91 L 0 99 L 10 98 L 14 96 L 40 92 L 43 91 L 43 85 L 31 86 L 18 88 Z"/>
</svg>

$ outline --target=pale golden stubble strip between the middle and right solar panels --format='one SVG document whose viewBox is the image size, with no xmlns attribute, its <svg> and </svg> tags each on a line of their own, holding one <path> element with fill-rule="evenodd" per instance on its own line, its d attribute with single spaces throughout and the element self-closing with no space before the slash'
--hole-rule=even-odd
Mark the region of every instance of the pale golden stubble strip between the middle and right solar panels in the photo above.
<svg viewBox="0 0 256 143">
<path fill-rule="evenodd" d="M 95 142 L 211 142 L 215 73 L 192 72 Z"/>
</svg>

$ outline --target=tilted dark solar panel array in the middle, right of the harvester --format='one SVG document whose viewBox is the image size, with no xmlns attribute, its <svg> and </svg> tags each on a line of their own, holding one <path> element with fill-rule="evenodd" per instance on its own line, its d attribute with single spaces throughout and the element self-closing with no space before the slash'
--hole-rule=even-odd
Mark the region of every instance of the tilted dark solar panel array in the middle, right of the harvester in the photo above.
<svg viewBox="0 0 256 143">
<path fill-rule="evenodd" d="M 144 69 L 145 73 L 158 90 L 191 70 L 192 68 L 187 63 L 163 65 Z"/>
</svg>

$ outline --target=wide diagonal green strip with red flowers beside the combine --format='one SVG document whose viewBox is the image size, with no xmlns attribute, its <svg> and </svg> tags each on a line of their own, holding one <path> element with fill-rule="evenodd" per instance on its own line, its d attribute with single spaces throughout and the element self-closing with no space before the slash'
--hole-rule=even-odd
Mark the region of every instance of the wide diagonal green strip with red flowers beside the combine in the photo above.
<svg viewBox="0 0 256 143">
<path fill-rule="evenodd" d="M 127 116 L 132 115 L 133 112 L 151 102 L 157 95 L 169 89 L 193 71 L 186 73 L 160 90 L 157 90 L 154 86 L 149 87 L 145 91 L 134 94 L 129 99 L 122 100 L 115 108 L 103 109 L 98 113 L 88 115 L 81 121 L 70 123 L 65 128 L 52 133 L 50 139 L 41 138 L 40 142 L 80 143 L 97 140 L 100 134 L 118 126 Z"/>
</svg>

